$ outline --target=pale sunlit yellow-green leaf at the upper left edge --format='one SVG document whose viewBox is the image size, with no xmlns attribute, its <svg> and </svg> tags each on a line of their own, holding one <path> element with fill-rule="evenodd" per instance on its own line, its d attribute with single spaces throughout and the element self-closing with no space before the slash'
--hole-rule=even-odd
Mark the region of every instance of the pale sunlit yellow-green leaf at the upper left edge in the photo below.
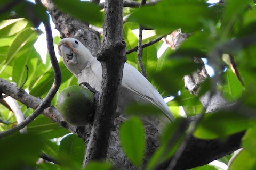
<svg viewBox="0 0 256 170">
<path fill-rule="evenodd" d="M 0 22 L 0 38 L 15 35 L 16 33 L 25 29 L 27 24 L 28 24 L 28 21 L 23 18 L 1 21 Z"/>
</svg>

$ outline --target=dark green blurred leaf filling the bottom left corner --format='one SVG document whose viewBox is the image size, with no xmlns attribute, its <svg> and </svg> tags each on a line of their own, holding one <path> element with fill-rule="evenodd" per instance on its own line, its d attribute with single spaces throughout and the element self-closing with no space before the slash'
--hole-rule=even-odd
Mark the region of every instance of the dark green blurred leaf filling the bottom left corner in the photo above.
<svg viewBox="0 0 256 170">
<path fill-rule="evenodd" d="M 34 169 L 42 149 L 42 142 L 35 134 L 15 134 L 0 139 L 0 146 L 1 167 L 10 170 Z"/>
</svg>

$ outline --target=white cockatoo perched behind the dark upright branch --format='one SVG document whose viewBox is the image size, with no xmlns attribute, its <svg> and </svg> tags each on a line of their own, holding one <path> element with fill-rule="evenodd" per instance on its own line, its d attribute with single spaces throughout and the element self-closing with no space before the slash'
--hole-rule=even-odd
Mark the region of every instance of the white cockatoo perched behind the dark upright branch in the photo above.
<svg viewBox="0 0 256 170">
<path fill-rule="evenodd" d="M 79 40 L 63 38 L 59 41 L 58 52 L 63 57 L 63 63 L 79 83 L 87 82 L 97 91 L 101 90 L 101 63 Z M 121 114 L 121 120 L 125 117 L 122 116 L 125 106 L 130 103 L 149 103 L 161 109 L 164 116 L 142 118 L 144 122 L 153 124 L 158 130 L 162 128 L 164 122 L 174 121 L 169 107 L 155 87 L 137 69 L 125 63 L 117 104 L 117 112 Z"/>
</svg>

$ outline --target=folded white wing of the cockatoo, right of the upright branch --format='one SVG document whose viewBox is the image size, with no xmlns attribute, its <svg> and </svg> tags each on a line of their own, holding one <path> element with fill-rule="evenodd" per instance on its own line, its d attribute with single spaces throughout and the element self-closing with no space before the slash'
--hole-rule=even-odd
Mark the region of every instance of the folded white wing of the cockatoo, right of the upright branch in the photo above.
<svg viewBox="0 0 256 170">
<path fill-rule="evenodd" d="M 124 65 L 122 86 L 160 108 L 169 120 L 174 121 L 169 107 L 155 87 L 137 69 L 127 63 Z"/>
</svg>

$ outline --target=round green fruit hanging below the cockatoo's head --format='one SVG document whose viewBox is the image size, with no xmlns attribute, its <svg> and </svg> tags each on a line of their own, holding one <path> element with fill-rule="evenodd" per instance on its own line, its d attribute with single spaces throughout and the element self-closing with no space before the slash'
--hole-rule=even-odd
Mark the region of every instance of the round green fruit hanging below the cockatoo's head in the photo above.
<svg viewBox="0 0 256 170">
<path fill-rule="evenodd" d="M 94 96 L 81 86 L 70 86 L 62 90 L 57 98 L 57 109 L 64 120 L 76 126 L 92 121 Z"/>
</svg>

